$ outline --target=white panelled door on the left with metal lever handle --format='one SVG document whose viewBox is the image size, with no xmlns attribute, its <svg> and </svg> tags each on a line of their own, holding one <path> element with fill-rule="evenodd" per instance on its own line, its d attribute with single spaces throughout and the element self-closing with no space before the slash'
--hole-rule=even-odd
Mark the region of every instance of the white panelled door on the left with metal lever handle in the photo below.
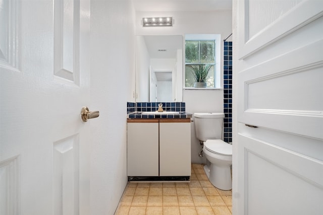
<svg viewBox="0 0 323 215">
<path fill-rule="evenodd" d="M 89 1 L 0 5 L 0 214 L 90 214 Z"/>
</svg>

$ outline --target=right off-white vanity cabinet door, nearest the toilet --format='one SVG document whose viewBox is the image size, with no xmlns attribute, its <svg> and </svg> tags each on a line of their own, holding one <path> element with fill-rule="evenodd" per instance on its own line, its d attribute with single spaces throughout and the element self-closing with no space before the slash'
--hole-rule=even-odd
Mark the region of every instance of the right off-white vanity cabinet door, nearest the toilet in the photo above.
<svg viewBox="0 0 323 215">
<path fill-rule="evenodd" d="M 159 175 L 191 175 L 191 123 L 159 123 Z"/>
</svg>

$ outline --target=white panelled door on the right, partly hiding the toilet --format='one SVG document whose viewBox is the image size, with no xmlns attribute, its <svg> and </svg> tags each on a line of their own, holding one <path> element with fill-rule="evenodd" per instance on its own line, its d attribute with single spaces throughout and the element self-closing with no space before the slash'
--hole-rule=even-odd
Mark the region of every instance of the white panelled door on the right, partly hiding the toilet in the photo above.
<svg viewBox="0 0 323 215">
<path fill-rule="evenodd" d="M 233 214 L 323 214 L 323 1 L 233 9 Z"/>
</svg>

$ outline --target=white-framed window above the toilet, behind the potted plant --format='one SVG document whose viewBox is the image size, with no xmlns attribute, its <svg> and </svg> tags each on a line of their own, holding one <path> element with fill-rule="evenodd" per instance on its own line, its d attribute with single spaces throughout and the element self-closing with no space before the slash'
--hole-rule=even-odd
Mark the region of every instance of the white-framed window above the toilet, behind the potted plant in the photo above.
<svg viewBox="0 0 323 215">
<path fill-rule="evenodd" d="M 216 45 L 220 41 L 218 35 L 186 35 L 185 36 L 185 87 L 194 87 L 196 79 L 193 74 L 195 67 L 209 67 L 205 83 L 207 88 L 220 87 L 220 52 Z M 219 56 L 217 56 L 219 55 Z M 193 68 L 192 68 L 193 67 Z M 219 80 L 218 80 L 219 79 Z"/>
</svg>

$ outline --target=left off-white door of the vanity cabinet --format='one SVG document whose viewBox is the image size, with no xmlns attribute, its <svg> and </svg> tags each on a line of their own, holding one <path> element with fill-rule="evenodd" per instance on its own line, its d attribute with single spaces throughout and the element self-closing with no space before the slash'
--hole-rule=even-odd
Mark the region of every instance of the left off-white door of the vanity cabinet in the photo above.
<svg viewBox="0 0 323 215">
<path fill-rule="evenodd" d="M 158 122 L 127 126 L 127 175 L 158 176 Z"/>
</svg>

